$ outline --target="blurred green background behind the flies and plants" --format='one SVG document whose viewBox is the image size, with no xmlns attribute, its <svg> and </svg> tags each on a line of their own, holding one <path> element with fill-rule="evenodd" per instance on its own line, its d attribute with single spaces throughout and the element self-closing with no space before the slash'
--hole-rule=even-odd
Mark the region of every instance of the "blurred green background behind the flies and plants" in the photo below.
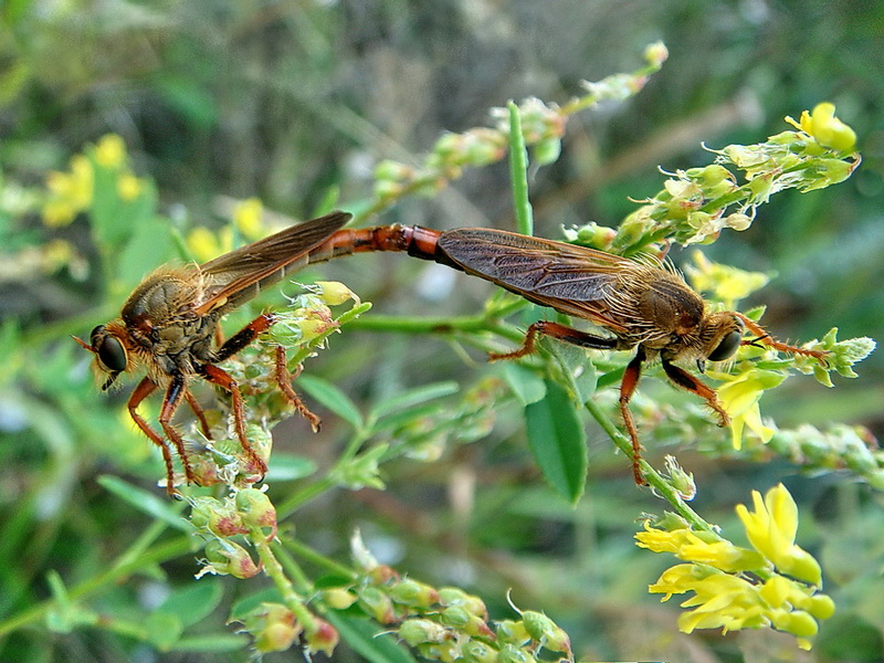
<svg viewBox="0 0 884 663">
<path fill-rule="evenodd" d="M 831 189 L 775 198 L 747 232 L 727 232 L 707 255 L 777 275 L 744 308 L 766 304 L 765 322 L 780 337 L 819 338 L 832 326 L 841 338 L 882 336 L 884 3 L 6 0 L 0 13 L 7 185 L 0 316 L 31 339 L 27 366 L 0 379 L 0 517 L 4 533 L 14 533 L 0 541 L 0 587 L 7 588 L 0 618 L 45 597 L 49 569 L 74 582 L 144 527 L 143 516 L 95 477 L 122 473 L 126 463 L 116 455 L 146 453 L 148 445 L 127 439 L 143 445 L 128 452 L 123 442 L 101 440 L 102 431 L 86 422 L 97 420 L 97 409 L 118 412 L 125 397 L 108 402 L 94 393 L 84 378 L 87 357 L 60 349 L 73 346 L 69 334 L 85 335 L 104 322 L 96 313 L 75 328 L 65 323 L 76 315 L 80 325 L 96 308 L 106 275 L 90 260 L 95 253 L 83 223 L 51 230 L 34 214 L 17 217 L 9 193 L 40 186 L 49 170 L 66 168 L 72 154 L 110 131 L 125 139 L 138 175 L 156 180 L 162 212 L 182 227 L 219 227 L 231 198 L 259 197 L 267 209 L 303 219 L 330 196 L 344 208 L 358 207 L 382 159 L 417 162 L 441 133 L 487 125 L 488 109 L 511 98 L 564 104 L 580 94 L 581 80 L 632 71 L 644 46 L 663 40 L 670 60 L 646 88 L 571 118 L 561 158 L 533 172 L 537 234 L 558 239 L 561 225 L 588 221 L 613 225 L 634 209 L 630 198 L 660 189 L 659 166 L 673 171 L 706 164 L 712 155 L 701 143 L 760 141 L 786 128 L 783 116 L 830 101 L 859 136 L 864 161 L 857 172 Z M 371 222 L 511 229 L 506 165 L 467 171 L 434 198 L 407 199 Z M 28 270 L 22 250 L 54 238 L 71 241 L 86 269 Z M 677 250 L 672 256 L 682 260 Z M 453 284 L 432 266 L 412 263 L 365 255 L 324 265 L 316 275 L 347 283 L 386 314 L 471 313 L 491 292 L 477 280 Z M 349 332 L 307 370 L 370 402 L 436 379 L 466 387 L 487 371 L 475 359 L 465 364 L 433 337 Z M 882 438 L 884 359 L 873 355 L 857 371 L 860 379 L 836 380 L 833 390 L 790 380 L 762 401 L 762 411 L 780 425 L 862 423 Z M 70 409 L 22 414 L 15 408 L 22 393 L 32 404 L 62 399 Z M 592 429 L 587 495 L 573 511 L 558 504 L 530 466 L 516 411 L 498 414 L 488 440 L 432 465 L 397 463 L 388 470 L 387 492 L 326 497 L 298 514 L 298 532 L 345 556 L 349 532 L 360 526 L 385 561 L 435 585 L 464 586 L 499 618 L 509 614 L 504 597 L 512 588 L 517 604 L 558 620 L 588 660 L 884 656 L 881 495 L 836 473 L 798 475 L 782 461 L 680 455 L 701 485 L 696 508 L 724 526 L 734 524 L 733 505 L 747 502 L 750 490 L 786 477 L 806 517 L 799 541 L 821 556 L 825 589 L 842 609 L 810 654 L 769 632 L 688 638 L 674 628 L 677 599 L 660 606 L 645 593 L 669 560 L 635 550 L 631 539 L 634 518 L 662 503 L 635 490 L 623 459 Z M 73 427 L 62 435 L 71 441 L 63 453 L 48 442 L 57 439 L 53 433 L 40 432 L 53 422 Z M 336 427 L 327 423 L 318 436 L 301 421 L 277 431 L 322 463 L 336 443 Z M 649 457 L 659 463 L 662 453 L 650 449 Z M 45 485 L 34 491 L 39 482 Z M 25 491 L 33 499 L 22 509 Z M 183 556 L 164 571 L 133 581 L 127 600 L 149 606 L 156 593 L 192 582 L 196 565 Z M 223 623 L 242 590 L 231 583 L 225 591 L 207 629 Z M 106 598 L 107 610 L 114 600 L 124 601 Z M 56 661 L 227 660 L 157 653 L 101 629 L 48 640 L 17 633 L 0 642 L 0 660 L 17 652 Z M 358 657 L 343 649 L 336 660 Z"/>
</svg>

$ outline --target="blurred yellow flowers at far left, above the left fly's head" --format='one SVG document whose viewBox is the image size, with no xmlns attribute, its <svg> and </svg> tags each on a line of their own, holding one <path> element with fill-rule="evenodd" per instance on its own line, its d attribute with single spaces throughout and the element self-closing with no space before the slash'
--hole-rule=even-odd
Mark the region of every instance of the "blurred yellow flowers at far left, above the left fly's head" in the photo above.
<svg viewBox="0 0 884 663">
<path fill-rule="evenodd" d="M 135 200 L 145 189 L 144 180 L 135 176 L 128 167 L 123 138 L 116 134 L 107 134 L 83 154 L 74 155 L 70 170 L 49 173 L 49 196 L 43 203 L 43 222 L 46 225 L 67 225 L 77 214 L 88 211 L 95 199 L 97 170 L 114 176 L 113 194 L 122 202 Z"/>
</svg>

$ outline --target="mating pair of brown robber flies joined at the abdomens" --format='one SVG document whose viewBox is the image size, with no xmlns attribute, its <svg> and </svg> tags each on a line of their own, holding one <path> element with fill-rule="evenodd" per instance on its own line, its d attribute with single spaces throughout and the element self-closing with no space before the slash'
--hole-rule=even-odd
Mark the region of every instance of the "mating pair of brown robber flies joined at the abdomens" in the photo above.
<svg viewBox="0 0 884 663">
<path fill-rule="evenodd" d="M 133 391 L 128 410 L 138 428 L 162 452 L 167 491 L 176 494 L 169 443 L 181 459 L 185 478 L 198 483 L 181 434 L 172 417 L 187 401 L 207 438 L 209 425 L 190 392 L 202 378 L 230 392 L 233 428 L 248 459 L 246 473 L 263 478 L 266 463 L 245 434 L 244 406 L 236 381 L 218 364 L 232 357 L 274 324 L 262 314 L 225 343 L 217 344 L 220 319 L 307 264 L 352 253 L 401 251 L 434 261 L 499 285 L 526 299 L 560 313 L 590 320 L 610 334 L 600 336 L 540 320 L 532 324 L 518 349 L 492 354 L 490 359 L 515 359 L 535 349 L 537 336 L 602 350 L 635 350 L 620 385 L 620 411 L 632 442 L 635 482 L 643 484 L 641 445 L 629 401 L 642 366 L 660 360 L 677 387 L 703 398 L 729 423 L 715 391 L 685 369 L 703 372 L 706 361 L 730 358 L 740 345 L 770 348 L 823 359 L 825 352 L 787 345 L 771 338 L 758 324 L 737 312 L 709 311 L 684 280 L 659 261 L 631 260 L 585 246 L 520 235 L 501 230 L 465 228 L 434 231 L 418 225 L 343 229 L 350 214 L 334 212 L 287 228 L 202 265 L 164 266 L 148 275 L 123 306 L 120 317 L 92 330 L 90 343 L 76 340 L 95 354 L 108 389 L 120 373 L 145 370 Z M 746 335 L 749 335 L 749 338 Z M 214 347 L 218 345 L 218 347 Z M 285 350 L 275 348 L 274 379 L 287 400 L 314 429 L 318 418 L 301 402 L 291 386 Z M 159 425 L 166 439 L 138 413 L 139 403 L 158 388 L 166 390 Z M 168 442 L 167 442 L 168 439 Z"/>
</svg>

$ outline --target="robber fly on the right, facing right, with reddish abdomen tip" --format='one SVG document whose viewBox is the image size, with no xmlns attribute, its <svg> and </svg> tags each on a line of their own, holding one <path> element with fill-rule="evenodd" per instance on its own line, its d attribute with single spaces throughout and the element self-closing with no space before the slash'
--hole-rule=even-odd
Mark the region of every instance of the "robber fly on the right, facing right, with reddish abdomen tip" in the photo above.
<svg viewBox="0 0 884 663">
<path fill-rule="evenodd" d="M 676 366 L 704 372 L 707 361 L 730 358 L 740 345 L 759 345 L 822 359 L 825 352 L 790 346 L 770 337 L 737 312 L 712 312 L 680 274 L 651 257 L 630 260 L 585 246 L 501 230 L 464 228 L 439 232 L 420 227 L 387 225 L 341 230 L 311 251 L 318 262 L 364 251 L 404 251 L 491 281 L 526 299 L 603 327 L 600 336 L 558 323 L 532 324 L 518 349 L 491 354 L 492 360 L 523 357 L 538 336 L 585 348 L 635 350 L 620 383 L 620 412 L 632 442 L 635 482 L 643 484 L 641 444 L 629 401 L 642 366 L 659 359 L 677 387 L 703 398 L 720 425 L 730 419 L 715 391 Z M 751 337 L 746 338 L 749 334 Z"/>
</svg>

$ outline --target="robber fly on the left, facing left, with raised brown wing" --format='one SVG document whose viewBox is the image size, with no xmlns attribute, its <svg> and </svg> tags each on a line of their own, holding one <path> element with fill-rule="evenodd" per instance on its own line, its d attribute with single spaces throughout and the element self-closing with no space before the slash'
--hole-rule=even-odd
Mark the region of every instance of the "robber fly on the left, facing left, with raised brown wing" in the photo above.
<svg viewBox="0 0 884 663">
<path fill-rule="evenodd" d="M 249 460 L 248 471 L 263 478 L 267 466 L 245 435 L 240 389 L 217 364 L 251 344 L 274 324 L 275 318 L 273 314 L 262 314 L 215 348 L 213 346 L 219 345 L 215 343 L 218 324 L 262 288 L 307 264 L 308 251 L 349 219 L 350 214 L 334 212 L 287 228 L 202 265 L 159 267 L 129 295 L 117 319 L 92 330 L 90 343 L 74 337 L 95 355 L 97 373 L 105 376 L 102 390 L 107 390 L 122 373 L 146 371 L 127 407 L 138 428 L 162 452 L 166 490 L 170 495 L 176 495 L 176 490 L 169 444 L 138 413 L 139 403 L 158 388 L 166 390 L 159 414 L 160 428 L 181 459 L 187 482 L 199 483 L 185 441 L 171 420 L 183 399 L 197 415 L 202 432 L 211 439 L 206 417 L 190 392 L 190 383 L 202 378 L 225 389 L 231 394 L 233 428 Z M 316 429 L 318 418 L 304 407 L 292 389 L 285 351 L 281 346 L 276 347 L 274 378 L 287 400 Z"/>
</svg>

